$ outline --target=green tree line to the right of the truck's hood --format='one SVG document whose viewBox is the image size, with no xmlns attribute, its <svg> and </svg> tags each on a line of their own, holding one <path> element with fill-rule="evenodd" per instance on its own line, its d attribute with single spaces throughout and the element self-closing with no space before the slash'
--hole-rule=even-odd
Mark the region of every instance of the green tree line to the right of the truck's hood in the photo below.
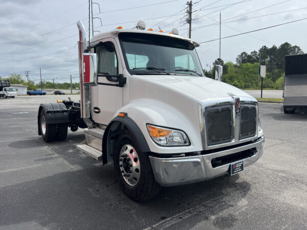
<svg viewBox="0 0 307 230">
<path fill-rule="evenodd" d="M 223 66 L 223 82 L 243 89 L 257 89 L 260 86 L 258 67 L 267 66 L 266 78 L 263 80 L 264 88 L 282 89 L 284 77 L 284 57 L 286 55 L 303 54 L 303 51 L 297 45 L 291 45 L 284 42 L 277 48 L 273 45 L 271 48 L 266 45 L 258 51 L 240 53 L 236 58 L 236 63 L 231 61 L 224 63 L 221 59 L 216 59 L 213 65 L 221 64 Z M 206 77 L 214 78 L 215 67 L 210 71 L 204 70 Z"/>
</svg>

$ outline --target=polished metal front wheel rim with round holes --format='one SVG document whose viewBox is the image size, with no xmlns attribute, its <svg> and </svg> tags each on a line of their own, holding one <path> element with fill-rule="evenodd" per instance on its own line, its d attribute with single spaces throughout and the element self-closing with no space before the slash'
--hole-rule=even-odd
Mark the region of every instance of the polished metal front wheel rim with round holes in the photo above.
<svg viewBox="0 0 307 230">
<path fill-rule="evenodd" d="M 141 165 L 138 153 L 131 145 L 124 145 L 119 153 L 121 175 L 129 186 L 135 186 L 140 180 Z"/>
</svg>

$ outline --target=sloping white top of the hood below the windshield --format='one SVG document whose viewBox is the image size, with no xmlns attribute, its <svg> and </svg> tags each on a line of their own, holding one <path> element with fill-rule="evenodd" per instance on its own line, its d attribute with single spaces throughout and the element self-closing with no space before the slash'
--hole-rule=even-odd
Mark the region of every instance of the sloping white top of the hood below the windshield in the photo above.
<svg viewBox="0 0 307 230">
<path fill-rule="evenodd" d="M 229 97 L 231 95 L 251 97 L 249 94 L 245 93 L 245 91 L 237 87 L 207 77 L 186 75 L 146 75 L 144 78 L 178 88 L 188 94 L 200 98 L 201 100 Z"/>
</svg>

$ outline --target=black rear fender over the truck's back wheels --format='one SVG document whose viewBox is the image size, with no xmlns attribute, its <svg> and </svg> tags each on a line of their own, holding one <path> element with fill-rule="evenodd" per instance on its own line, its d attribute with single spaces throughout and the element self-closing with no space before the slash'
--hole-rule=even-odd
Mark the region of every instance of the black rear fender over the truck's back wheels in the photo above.
<svg viewBox="0 0 307 230">
<path fill-rule="evenodd" d="M 43 103 L 39 105 L 38 115 L 37 115 L 37 127 L 38 135 L 40 133 L 40 113 L 41 110 L 46 111 L 46 124 L 59 124 L 59 123 L 69 123 L 69 116 L 66 106 L 63 103 Z"/>
</svg>

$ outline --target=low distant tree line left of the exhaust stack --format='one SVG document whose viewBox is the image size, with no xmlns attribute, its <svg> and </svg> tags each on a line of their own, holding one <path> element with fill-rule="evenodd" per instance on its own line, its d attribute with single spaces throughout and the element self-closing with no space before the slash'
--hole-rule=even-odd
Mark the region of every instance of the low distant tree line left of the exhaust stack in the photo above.
<svg viewBox="0 0 307 230">
<path fill-rule="evenodd" d="M 7 78 L 3 78 L 0 76 L 0 79 L 6 79 L 9 80 L 11 84 L 22 84 L 22 85 L 28 85 L 28 82 L 25 81 L 20 74 L 11 74 L 9 77 Z M 42 88 L 48 88 L 48 89 L 53 89 L 53 87 L 55 89 L 70 89 L 71 84 L 68 82 L 63 82 L 63 83 L 57 83 L 55 82 L 53 85 L 53 82 L 50 81 L 42 81 Z M 79 88 L 79 83 L 72 83 L 73 89 Z M 28 90 L 32 90 L 32 89 L 40 89 L 41 85 L 40 82 L 36 83 L 34 81 L 29 80 L 29 87 Z"/>
</svg>

